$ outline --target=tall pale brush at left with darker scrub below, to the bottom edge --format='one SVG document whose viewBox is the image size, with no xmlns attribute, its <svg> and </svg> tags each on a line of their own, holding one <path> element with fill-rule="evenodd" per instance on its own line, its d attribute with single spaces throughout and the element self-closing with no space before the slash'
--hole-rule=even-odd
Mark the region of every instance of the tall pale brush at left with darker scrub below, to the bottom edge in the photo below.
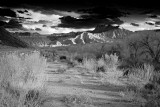
<svg viewBox="0 0 160 107">
<path fill-rule="evenodd" d="M 46 67 L 39 51 L 0 53 L 0 107 L 39 107 Z"/>
</svg>

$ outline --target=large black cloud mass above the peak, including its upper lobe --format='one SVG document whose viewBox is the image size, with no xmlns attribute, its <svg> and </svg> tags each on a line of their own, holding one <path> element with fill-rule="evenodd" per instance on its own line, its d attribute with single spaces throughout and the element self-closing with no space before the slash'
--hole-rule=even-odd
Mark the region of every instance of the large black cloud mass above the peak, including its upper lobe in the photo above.
<svg viewBox="0 0 160 107">
<path fill-rule="evenodd" d="M 123 21 L 119 17 L 124 16 L 126 13 L 117 10 L 116 8 L 109 7 L 94 7 L 88 9 L 79 9 L 76 12 L 84 13 L 80 19 L 71 16 L 60 18 L 61 24 L 59 27 L 69 28 L 91 28 L 99 24 L 122 24 Z"/>
</svg>

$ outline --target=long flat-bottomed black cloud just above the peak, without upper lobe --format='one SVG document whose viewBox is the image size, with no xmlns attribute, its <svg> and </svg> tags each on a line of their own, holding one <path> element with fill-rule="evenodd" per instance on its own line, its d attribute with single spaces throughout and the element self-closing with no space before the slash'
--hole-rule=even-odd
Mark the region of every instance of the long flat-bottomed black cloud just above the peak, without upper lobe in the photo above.
<svg viewBox="0 0 160 107">
<path fill-rule="evenodd" d="M 58 27 L 68 27 L 68 28 L 92 28 L 99 24 L 122 24 L 119 18 L 114 18 L 112 20 L 106 18 L 95 18 L 95 17 L 85 17 L 83 19 L 76 19 L 71 16 L 65 16 L 60 18 L 61 24 Z"/>
</svg>

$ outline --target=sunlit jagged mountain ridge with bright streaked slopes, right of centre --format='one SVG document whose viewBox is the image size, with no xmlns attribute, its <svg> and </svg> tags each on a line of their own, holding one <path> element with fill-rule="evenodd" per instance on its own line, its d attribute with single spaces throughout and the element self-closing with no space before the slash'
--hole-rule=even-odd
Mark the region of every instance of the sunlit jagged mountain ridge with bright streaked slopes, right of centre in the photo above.
<svg viewBox="0 0 160 107">
<path fill-rule="evenodd" d="M 125 37 L 132 34 L 132 31 L 125 29 L 120 29 L 118 27 L 111 27 L 105 29 L 104 27 L 100 30 L 101 27 L 95 28 L 92 32 L 81 32 L 81 33 L 72 33 L 72 35 L 61 35 L 61 36 L 48 36 L 52 41 L 51 46 L 67 46 L 75 44 L 88 44 L 88 43 L 106 43 L 112 42 L 113 40 L 124 39 Z M 95 33 L 99 32 L 99 33 Z M 104 32 L 103 32 L 104 31 Z"/>
</svg>

